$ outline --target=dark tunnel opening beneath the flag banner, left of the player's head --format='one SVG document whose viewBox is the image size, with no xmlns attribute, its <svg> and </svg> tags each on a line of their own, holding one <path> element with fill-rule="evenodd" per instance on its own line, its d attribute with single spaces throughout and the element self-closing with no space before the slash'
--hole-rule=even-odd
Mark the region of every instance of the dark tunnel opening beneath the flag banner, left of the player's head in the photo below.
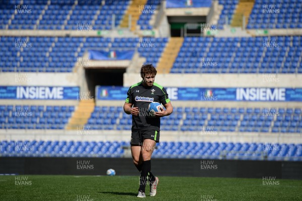
<svg viewBox="0 0 302 201">
<path fill-rule="evenodd" d="M 85 69 L 85 78 L 91 96 L 96 97 L 96 86 L 123 86 L 126 69 Z"/>
</svg>

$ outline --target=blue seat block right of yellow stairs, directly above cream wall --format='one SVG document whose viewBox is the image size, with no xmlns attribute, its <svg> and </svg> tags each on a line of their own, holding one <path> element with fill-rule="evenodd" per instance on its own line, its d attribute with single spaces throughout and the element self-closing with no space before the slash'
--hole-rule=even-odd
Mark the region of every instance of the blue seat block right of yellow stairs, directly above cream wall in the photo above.
<svg viewBox="0 0 302 201">
<path fill-rule="evenodd" d="M 300 36 L 186 37 L 171 73 L 301 73 L 300 41 Z"/>
</svg>

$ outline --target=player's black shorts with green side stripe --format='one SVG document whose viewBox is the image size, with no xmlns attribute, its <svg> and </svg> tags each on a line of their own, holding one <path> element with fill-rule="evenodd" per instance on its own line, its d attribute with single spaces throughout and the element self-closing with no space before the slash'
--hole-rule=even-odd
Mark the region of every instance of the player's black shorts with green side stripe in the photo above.
<svg viewBox="0 0 302 201">
<path fill-rule="evenodd" d="M 144 139 L 151 139 L 160 142 L 160 131 L 158 130 L 140 130 L 131 132 L 130 145 L 142 145 Z"/>
</svg>

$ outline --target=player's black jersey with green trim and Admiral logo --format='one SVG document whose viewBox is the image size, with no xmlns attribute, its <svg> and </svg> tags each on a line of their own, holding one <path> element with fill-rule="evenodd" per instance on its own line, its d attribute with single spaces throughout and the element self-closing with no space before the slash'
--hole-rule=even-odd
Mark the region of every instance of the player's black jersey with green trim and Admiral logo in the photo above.
<svg viewBox="0 0 302 201">
<path fill-rule="evenodd" d="M 163 105 L 170 102 L 167 91 L 157 83 L 152 87 L 144 87 L 142 82 L 132 85 L 128 92 L 126 103 L 132 103 L 133 107 L 138 107 L 139 114 L 132 115 L 131 130 L 154 129 L 160 131 L 161 119 L 148 112 L 148 106 L 151 102 L 159 102 Z"/>
</svg>

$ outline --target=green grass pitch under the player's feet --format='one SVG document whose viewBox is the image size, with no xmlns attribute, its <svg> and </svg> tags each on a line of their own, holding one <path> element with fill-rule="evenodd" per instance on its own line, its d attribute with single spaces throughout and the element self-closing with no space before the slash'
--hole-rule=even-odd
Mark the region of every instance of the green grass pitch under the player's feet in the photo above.
<svg viewBox="0 0 302 201">
<path fill-rule="evenodd" d="M 302 200 L 302 181 L 159 176 L 155 197 L 137 198 L 138 176 L 0 176 L 0 200 Z M 278 181 L 278 182 L 276 182 Z"/>
</svg>

